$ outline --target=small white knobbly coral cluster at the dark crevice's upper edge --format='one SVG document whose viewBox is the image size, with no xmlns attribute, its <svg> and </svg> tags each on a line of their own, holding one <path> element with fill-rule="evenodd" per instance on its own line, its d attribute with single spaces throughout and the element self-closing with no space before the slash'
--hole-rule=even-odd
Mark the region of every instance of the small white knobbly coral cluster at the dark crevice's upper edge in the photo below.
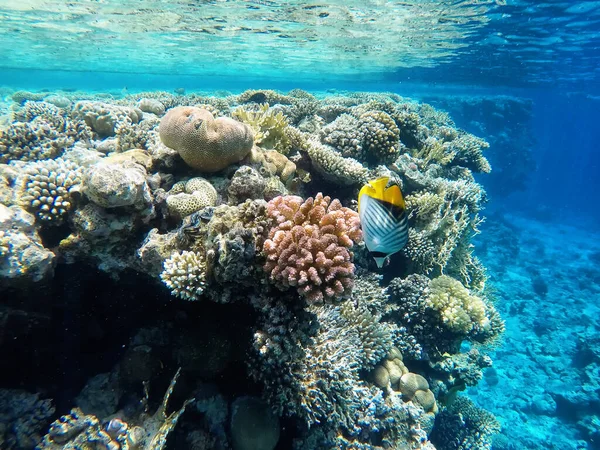
<svg viewBox="0 0 600 450">
<path fill-rule="evenodd" d="M 160 278 L 175 297 L 198 300 L 206 285 L 205 258 L 198 252 L 175 252 L 164 262 Z"/>
</svg>

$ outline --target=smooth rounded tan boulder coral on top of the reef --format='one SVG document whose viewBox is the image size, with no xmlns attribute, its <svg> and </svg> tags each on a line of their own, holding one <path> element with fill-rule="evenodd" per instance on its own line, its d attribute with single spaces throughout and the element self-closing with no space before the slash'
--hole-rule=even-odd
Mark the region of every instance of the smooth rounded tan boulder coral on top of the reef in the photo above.
<svg viewBox="0 0 600 450">
<path fill-rule="evenodd" d="M 203 172 L 217 172 L 240 161 L 254 140 L 247 125 L 228 117 L 215 119 L 210 111 L 192 106 L 169 110 L 160 121 L 159 134 L 188 166 Z"/>
</svg>

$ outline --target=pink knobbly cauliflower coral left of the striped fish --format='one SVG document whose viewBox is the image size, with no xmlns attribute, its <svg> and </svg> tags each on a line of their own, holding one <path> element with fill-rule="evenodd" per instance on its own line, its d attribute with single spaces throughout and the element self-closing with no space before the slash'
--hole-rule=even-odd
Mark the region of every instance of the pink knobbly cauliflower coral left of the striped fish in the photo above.
<svg viewBox="0 0 600 450">
<path fill-rule="evenodd" d="M 263 245 L 271 280 L 295 286 L 311 303 L 348 297 L 354 279 L 349 248 L 362 239 L 358 214 L 321 193 L 305 201 L 279 196 L 267 207 L 275 222 Z"/>
</svg>

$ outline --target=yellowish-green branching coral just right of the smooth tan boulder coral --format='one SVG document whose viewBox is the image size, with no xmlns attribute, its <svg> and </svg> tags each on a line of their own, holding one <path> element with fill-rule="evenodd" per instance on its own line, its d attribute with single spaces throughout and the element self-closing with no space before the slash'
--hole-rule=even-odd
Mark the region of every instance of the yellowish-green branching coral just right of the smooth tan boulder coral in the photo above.
<svg viewBox="0 0 600 450">
<path fill-rule="evenodd" d="M 277 150 L 284 155 L 289 153 L 291 142 L 287 136 L 288 121 L 281 111 L 274 112 L 269 109 L 268 103 L 264 103 L 259 106 L 258 111 L 242 106 L 232 116 L 252 128 L 256 145 Z"/>
</svg>

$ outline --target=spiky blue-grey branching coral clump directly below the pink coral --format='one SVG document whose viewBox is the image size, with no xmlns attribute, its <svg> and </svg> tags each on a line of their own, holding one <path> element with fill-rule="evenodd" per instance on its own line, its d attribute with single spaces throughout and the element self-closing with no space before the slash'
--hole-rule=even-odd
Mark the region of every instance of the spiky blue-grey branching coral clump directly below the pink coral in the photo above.
<svg viewBox="0 0 600 450">
<path fill-rule="evenodd" d="M 369 396 L 359 372 L 385 356 L 390 338 L 377 318 L 347 303 L 307 310 L 264 304 L 250 365 L 276 412 L 352 433 Z"/>
</svg>

